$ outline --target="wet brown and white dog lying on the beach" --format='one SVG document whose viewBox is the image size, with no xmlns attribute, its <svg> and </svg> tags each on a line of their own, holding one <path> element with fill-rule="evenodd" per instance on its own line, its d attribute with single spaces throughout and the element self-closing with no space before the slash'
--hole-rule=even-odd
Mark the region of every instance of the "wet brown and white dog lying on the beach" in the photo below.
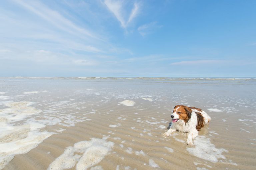
<svg viewBox="0 0 256 170">
<path fill-rule="evenodd" d="M 198 131 L 211 120 L 210 116 L 201 109 L 183 105 L 174 107 L 171 118 L 172 125 L 164 136 L 170 136 L 176 130 L 188 133 L 186 142 L 190 146 L 193 146 L 193 139 L 198 135 Z"/>
</svg>

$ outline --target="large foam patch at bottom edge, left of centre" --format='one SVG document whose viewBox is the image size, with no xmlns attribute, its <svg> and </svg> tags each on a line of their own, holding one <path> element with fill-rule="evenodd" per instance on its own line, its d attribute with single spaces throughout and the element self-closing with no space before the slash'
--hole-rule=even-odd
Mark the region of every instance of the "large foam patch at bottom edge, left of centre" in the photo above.
<svg viewBox="0 0 256 170">
<path fill-rule="evenodd" d="M 64 153 L 49 165 L 48 170 L 69 169 L 74 167 L 76 162 L 78 162 L 76 169 L 86 170 L 104 159 L 113 145 L 113 142 L 107 142 L 99 138 L 77 142 L 73 147 L 66 147 Z"/>
</svg>

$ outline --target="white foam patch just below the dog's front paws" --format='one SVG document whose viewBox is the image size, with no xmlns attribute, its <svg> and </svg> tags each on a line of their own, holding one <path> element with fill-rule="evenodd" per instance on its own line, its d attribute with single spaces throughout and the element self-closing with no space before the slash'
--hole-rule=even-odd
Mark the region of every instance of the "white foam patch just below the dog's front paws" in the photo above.
<svg viewBox="0 0 256 170">
<path fill-rule="evenodd" d="M 211 162 L 218 162 L 218 159 L 226 159 L 222 152 L 228 152 L 226 149 L 217 149 L 214 144 L 211 143 L 210 138 L 205 136 L 198 136 L 194 140 L 195 147 L 187 147 L 187 151 L 201 159 L 205 159 Z"/>
</svg>

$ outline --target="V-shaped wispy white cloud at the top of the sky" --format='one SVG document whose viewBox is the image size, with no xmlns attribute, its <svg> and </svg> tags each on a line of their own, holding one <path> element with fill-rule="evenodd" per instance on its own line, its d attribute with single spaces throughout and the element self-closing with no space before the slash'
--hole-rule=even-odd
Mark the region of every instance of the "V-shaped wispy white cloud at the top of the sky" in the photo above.
<svg viewBox="0 0 256 170">
<path fill-rule="evenodd" d="M 125 19 L 125 2 L 121 0 L 105 0 L 104 3 L 108 7 L 117 20 L 121 23 L 121 27 L 126 28 L 136 18 L 140 12 L 140 4 L 138 2 L 133 3 L 133 8 L 129 13 L 128 19 Z"/>
</svg>

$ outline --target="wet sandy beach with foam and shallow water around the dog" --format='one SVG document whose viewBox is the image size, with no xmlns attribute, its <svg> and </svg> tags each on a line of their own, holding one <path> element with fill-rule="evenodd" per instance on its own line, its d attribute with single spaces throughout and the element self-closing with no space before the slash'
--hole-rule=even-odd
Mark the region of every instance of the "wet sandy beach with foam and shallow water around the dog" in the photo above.
<svg viewBox="0 0 256 170">
<path fill-rule="evenodd" d="M 0 78 L 0 169 L 255 169 L 255 78 Z M 164 137 L 175 105 L 211 118 Z"/>
</svg>

